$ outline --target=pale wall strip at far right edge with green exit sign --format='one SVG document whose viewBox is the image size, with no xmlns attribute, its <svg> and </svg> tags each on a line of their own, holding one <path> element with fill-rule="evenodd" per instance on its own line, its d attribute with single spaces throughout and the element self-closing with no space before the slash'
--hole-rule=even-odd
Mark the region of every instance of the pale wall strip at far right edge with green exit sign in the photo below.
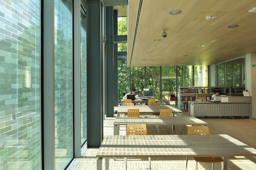
<svg viewBox="0 0 256 170">
<path fill-rule="evenodd" d="M 251 118 L 256 119 L 256 53 L 246 54 L 246 85 L 250 96 L 252 96 L 252 115 Z"/>
</svg>

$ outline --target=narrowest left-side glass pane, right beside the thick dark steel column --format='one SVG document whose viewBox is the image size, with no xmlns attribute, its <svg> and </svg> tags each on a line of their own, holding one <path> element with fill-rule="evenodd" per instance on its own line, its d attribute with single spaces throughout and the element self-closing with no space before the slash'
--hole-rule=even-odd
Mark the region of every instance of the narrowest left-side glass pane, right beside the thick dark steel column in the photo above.
<svg viewBox="0 0 256 170">
<path fill-rule="evenodd" d="M 81 144 L 87 139 L 87 25 L 86 15 L 81 8 Z"/>
</svg>

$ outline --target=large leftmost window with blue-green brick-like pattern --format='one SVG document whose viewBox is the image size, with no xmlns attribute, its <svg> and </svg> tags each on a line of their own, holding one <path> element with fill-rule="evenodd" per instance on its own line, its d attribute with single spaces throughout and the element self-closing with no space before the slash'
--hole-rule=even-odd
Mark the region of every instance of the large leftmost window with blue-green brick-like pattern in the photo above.
<svg viewBox="0 0 256 170">
<path fill-rule="evenodd" d="M 41 169 L 40 0 L 0 3 L 0 169 Z"/>
</svg>

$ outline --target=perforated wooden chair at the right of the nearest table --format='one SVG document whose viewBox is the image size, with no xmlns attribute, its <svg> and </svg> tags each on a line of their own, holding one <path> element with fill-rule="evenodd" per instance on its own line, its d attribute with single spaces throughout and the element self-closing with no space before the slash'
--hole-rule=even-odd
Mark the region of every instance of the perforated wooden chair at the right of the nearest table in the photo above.
<svg viewBox="0 0 256 170">
<path fill-rule="evenodd" d="M 189 126 L 188 127 L 188 135 L 210 135 L 210 131 L 208 126 Z M 214 168 L 214 163 L 222 162 L 221 169 L 223 170 L 223 162 L 224 160 L 220 157 L 193 157 L 196 161 L 196 170 L 197 170 L 197 163 L 198 162 L 206 162 L 212 163 L 212 170 Z M 188 157 L 186 160 L 186 170 L 188 167 Z"/>
</svg>

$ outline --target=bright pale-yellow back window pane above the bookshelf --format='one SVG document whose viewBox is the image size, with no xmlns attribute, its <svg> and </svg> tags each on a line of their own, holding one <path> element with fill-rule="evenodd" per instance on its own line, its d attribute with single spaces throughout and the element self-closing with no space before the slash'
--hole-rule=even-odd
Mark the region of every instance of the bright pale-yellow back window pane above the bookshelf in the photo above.
<svg viewBox="0 0 256 170">
<path fill-rule="evenodd" d="M 208 66 L 194 66 L 194 79 L 196 87 L 208 87 Z"/>
</svg>

